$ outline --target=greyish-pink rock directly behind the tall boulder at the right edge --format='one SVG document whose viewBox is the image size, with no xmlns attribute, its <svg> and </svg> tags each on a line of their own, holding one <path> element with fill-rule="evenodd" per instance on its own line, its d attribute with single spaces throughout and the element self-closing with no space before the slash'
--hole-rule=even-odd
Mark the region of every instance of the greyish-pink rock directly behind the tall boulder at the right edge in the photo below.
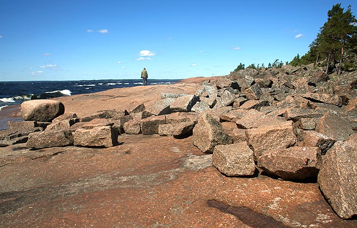
<svg viewBox="0 0 357 228">
<path fill-rule="evenodd" d="M 316 131 L 339 141 L 344 141 L 353 133 L 350 122 L 333 111 L 320 118 Z"/>
</svg>

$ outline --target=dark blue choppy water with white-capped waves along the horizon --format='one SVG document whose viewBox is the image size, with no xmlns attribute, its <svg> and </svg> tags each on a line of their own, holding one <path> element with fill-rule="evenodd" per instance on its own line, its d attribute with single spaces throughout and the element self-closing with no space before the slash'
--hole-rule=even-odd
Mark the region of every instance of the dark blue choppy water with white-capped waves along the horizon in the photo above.
<svg viewBox="0 0 357 228">
<path fill-rule="evenodd" d="M 150 79 L 147 85 L 173 84 L 177 80 Z M 108 89 L 141 86 L 139 80 L 89 80 L 89 81 L 38 81 L 0 82 L 0 110 L 21 104 L 25 100 L 47 99 L 83 93 L 94 93 Z"/>
</svg>

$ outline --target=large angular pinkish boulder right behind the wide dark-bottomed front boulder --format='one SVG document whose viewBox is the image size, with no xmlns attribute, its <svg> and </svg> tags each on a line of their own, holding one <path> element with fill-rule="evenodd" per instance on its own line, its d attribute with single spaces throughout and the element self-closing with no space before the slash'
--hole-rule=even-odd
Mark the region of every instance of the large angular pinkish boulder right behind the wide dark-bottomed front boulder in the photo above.
<svg viewBox="0 0 357 228">
<path fill-rule="evenodd" d="M 292 121 L 275 122 L 271 125 L 245 131 L 247 143 L 259 158 L 269 153 L 269 150 L 285 149 L 296 143 L 294 124 Z"/>
</svg>

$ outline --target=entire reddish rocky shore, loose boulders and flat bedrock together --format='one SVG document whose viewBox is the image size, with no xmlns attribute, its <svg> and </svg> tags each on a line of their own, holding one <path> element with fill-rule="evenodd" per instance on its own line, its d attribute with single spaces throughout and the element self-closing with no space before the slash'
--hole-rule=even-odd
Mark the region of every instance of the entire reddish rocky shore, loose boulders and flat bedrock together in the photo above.
<svg viewBox="0 0 357 228">
<path fill-rule="evenodd" d="M 245 69 L 30 100 L 3 227 L 355 227 L 357 72 Z"/>
</svg>

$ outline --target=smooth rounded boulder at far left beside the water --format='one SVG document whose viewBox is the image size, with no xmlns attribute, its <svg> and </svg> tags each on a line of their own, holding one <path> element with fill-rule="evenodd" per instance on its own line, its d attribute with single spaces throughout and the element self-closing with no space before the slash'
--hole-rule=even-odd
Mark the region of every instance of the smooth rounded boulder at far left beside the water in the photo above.
<svg viewBox="0 0 357 228">
<path fill-rule="evenodd" d="M 64 105 L 58 100 L 27 100 L 21 104 L 21 117 L 24 120 L 50 122 L 64 113 Z"/>
</svg>

